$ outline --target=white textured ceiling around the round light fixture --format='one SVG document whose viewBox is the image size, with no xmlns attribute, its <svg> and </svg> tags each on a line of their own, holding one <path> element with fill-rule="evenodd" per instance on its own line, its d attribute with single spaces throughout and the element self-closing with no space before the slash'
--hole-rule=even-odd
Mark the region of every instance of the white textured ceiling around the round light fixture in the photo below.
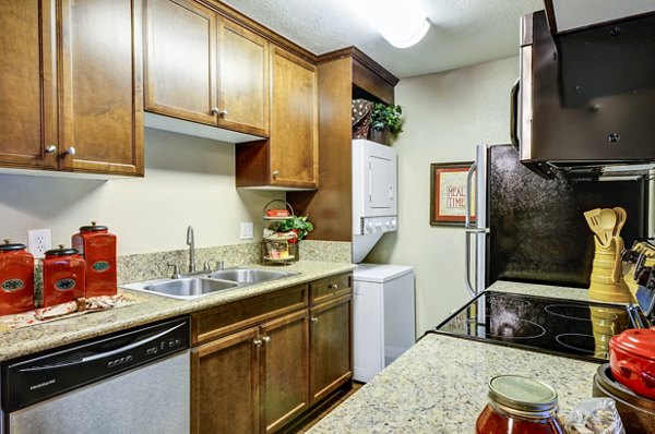
<svg viewBox="0 0 655 434">
<path fill-rule="evenodd" d="M 347 5 L 357 0 L 223 0 L 321 55 L 356 46 L 398 77 L 446 71 L 519 53 L 519 17 L 543 0 L 418 0 L 432 25 L 410 48 L 386 43 Z"/>
</svg>

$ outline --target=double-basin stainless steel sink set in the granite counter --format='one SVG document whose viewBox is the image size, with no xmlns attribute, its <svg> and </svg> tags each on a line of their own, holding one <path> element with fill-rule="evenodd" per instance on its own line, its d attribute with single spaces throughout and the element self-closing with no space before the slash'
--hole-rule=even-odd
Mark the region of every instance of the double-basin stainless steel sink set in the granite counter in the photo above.
<svg viewBox="0 0 655 434">
<path fill-rule="evenodd" d="M 182 279 L 159 279 L 140 284 L 124 285 L 124 288 L 155 293 L 174 299 L 189 300 L 207 296 L 217 291 L 237 288 L 236 281 L 207 279 L 204 277 L 187 277 Z"/>
</svg>

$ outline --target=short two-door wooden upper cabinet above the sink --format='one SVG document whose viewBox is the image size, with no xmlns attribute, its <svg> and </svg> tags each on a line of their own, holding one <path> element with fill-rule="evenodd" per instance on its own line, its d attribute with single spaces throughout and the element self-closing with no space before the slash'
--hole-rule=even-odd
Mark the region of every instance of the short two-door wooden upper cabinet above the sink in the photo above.
<svg viewBox="0 0 655 434">
<path fill-rule="evenodd" d="M 191 0 L 146 0 L 145 109 L 269 135 L 269 43 Z"/>
</svg>

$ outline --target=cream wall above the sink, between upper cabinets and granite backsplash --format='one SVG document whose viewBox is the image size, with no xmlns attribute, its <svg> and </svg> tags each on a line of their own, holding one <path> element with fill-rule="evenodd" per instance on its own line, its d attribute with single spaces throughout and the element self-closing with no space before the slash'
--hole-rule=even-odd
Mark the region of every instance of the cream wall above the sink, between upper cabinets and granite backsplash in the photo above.
<svg viewBox="0 0 655 434">
<path fill-rule="evenodd" d="M 53 244 L 92 220 L 118 236 L 119 255 L 237 244 L 239 222 L 253 221 L 281 192 L 235 188 L 235 145 L 145 130 L 145 178 L 93 181 L 0 174 L 0 239 L 27 243 L 27 230 L 51 228 Z"/>
</svg>

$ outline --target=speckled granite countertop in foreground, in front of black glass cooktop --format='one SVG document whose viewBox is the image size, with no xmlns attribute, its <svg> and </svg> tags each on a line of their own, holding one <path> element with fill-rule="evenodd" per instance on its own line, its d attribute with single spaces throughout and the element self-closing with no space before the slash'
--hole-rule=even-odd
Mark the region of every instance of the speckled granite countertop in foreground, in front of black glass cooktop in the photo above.
<svg viewBox="0 0 655 434">
<path fill-rule="evenodd" d="M 540 379 L 560 414 L 592 396 L 595 363 L 449 336 L 428 335 L 321 420 L 311 433 L 473 433 L 487 382 L 501 374 Z"/>
</svg>

